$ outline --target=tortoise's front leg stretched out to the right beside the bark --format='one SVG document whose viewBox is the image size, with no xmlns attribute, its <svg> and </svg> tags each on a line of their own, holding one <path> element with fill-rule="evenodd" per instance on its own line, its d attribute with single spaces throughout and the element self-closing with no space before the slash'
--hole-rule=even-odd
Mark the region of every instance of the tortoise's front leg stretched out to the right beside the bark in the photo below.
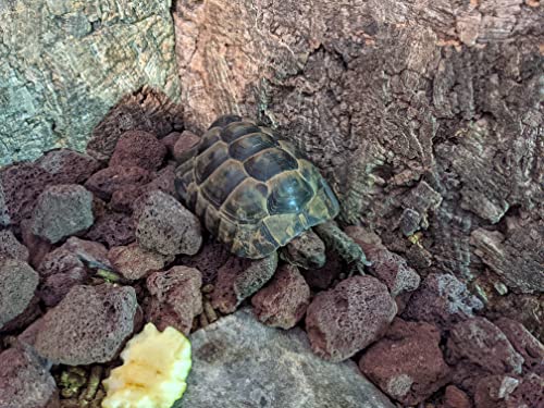
<svg viewBox="0 0 544 408">
<path fill-rule="evenodd" d="M 364 274 L 364 265 L 371 263 L 367 260 L 362 248 L 342 231 L 334 221 L 316 225 L 313 231 L 325 243 L 327 248 L 338 252 L 348 263 L 354 264 L 361 275 Z"/>
</svg>

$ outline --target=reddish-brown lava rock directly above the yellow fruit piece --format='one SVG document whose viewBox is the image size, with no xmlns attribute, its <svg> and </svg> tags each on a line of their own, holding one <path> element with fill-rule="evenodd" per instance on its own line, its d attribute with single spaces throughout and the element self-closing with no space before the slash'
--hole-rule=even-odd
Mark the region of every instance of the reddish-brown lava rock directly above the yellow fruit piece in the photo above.
<svg viewBox="0 0 544 408">
<path fill-rule="evenodd" d="M 202 312 L 202 277 L 195 268 L 174 267 L 147 279 L 151 294 L 146 316 L 159 330 L 171 325 L 189 334 L 193 319 Z"/>
</svg>

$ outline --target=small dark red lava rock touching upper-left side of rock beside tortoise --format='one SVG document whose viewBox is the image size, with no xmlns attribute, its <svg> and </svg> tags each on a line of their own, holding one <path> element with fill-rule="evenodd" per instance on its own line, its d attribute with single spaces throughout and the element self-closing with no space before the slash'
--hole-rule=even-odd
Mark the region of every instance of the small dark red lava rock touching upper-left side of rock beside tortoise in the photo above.
<svg viewBox="0 0 544 408">
<path fill-rule="evenodd" d="M 108 212 L 95 221 L 85 238 L 110 248 L 131 244 L 136 239 L 133 219 L 121 212 Z"/>
</svg>

